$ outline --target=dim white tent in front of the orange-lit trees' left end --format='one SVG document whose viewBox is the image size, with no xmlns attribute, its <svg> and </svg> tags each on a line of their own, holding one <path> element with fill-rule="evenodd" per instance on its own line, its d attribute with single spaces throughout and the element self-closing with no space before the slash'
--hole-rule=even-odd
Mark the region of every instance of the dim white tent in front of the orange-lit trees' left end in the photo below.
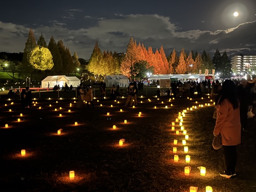
<svg viewBox="0 0 256 192">
<path fill-rule="evenodd" d="M 106 87 L 112 87 L 113 84 L 115 87 L 117 85 L 119 85 L 119 87 L 129 86 L 129 79 L 127 76 L 106 76 L 104 82 L 106 83 Z"/>
</svg>

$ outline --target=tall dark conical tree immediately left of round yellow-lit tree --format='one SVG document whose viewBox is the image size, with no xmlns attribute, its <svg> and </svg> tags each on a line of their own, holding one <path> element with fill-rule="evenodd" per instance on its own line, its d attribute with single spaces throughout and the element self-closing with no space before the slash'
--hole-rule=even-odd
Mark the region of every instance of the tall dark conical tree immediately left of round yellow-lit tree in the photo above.
<svg viewBox="0 0 256 192">
<path fill-rule="evenodd" d="M 24 71 L 26 71 L 26 73 L 31 74 L 31 78 L 32 78 L 32 72 L 34 71 L 34 69 L 32 65 L 29 63 L 28 58 L 30 57 L 31 52 L 33 49 L 35 49 L 35 47 L 36 47 L 36 42 L 35 42 L 34 33 L 30 28 L 29 36 L 26 41 L 24 52 L 23 52 L 22 65 L 23 65 Z"/>
</svg>

